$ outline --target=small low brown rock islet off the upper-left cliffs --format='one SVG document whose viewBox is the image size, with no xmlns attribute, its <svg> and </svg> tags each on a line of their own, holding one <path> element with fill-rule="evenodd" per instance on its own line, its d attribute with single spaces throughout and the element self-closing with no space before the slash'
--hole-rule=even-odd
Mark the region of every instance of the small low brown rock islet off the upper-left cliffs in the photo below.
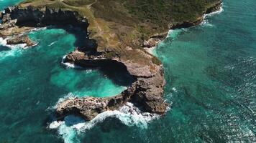
<svg viewBox="0 0 256 143">
<path fill-rule="evenodd" d="M 27 46 L 35 45 L 35 42 L 29 39 L 29 36 L 27 35 L 14 36 L 11 39 L 7 39 L 6 42 L 6 44 L 26 44 Z"/>
</svg>

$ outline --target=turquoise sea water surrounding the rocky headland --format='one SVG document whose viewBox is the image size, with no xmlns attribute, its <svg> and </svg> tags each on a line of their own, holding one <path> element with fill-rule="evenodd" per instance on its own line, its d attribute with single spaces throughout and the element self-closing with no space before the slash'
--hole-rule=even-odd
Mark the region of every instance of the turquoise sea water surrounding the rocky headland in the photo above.
<svg viewBox="0 0 256 143">
<path fill-rule="evenodd" d="M 0 0 L 0 8 L 17 2 Z M 76 46 L 76 30 L 32 31 L 38 45 L 29 49 L 9 49 L 1 40 L 0 142 L 256 142 L 255 6 L 227 0 L 204 24 L 170 31 L 153 51 L 165 67 L 170 111 L 146 127 L 110 118 L 83 131 L 68 124 L 49 129 L 60 99 L 111 96 L 127 84 L 60 65 Z"/>
</svg>

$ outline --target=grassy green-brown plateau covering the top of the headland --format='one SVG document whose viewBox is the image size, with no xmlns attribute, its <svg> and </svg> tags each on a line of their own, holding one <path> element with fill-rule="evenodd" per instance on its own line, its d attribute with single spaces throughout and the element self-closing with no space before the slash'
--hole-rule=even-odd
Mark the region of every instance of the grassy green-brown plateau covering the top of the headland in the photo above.
<svg viewBox="0 0 256 143">
<path fill-rule="evenodd" d="M 155 56 L 138 52 L 143 40 L 168 31 L 170 24 L 195 22 L 206 9 L 221 0 L 27 0 L 19 6 L 48 6 L 78 11 L 86 16 L 91 38 L 98 49 L 110 49 L 111 59 L 118 55 L 142 65 L 160 64 Z M 131 48 L 133 50 L 131 50 Z M 145 51 L 143 51 L 145 52 Z"/>
</svg>

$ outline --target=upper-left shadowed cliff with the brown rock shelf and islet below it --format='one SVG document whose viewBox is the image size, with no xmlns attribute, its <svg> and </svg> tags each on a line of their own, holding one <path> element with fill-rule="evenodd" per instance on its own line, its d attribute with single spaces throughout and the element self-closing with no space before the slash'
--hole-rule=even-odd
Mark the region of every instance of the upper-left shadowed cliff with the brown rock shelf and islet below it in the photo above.
<svg viewBox="0 0 256 143">
<path fill-rule="evenodd" d="M 4 38 L 12 36 L 9 39 L 9 44 L 27 43 L 28 46 L 32 45 L 32 41 L 28 36 L 19 36 L 21 33 L 29 31 L 35 27 L 43 27 L 49 25 L 65 26 L 70 24 L 75 27 L 81 28 L 87 34 L 88 21 L 86 17 L 78 14 L 77 11 L 53 9 L 47 6 L 42 7 L 20 7 L 12 6 L 4 9 L 0 14 L 1 25 L 0 35 Z M 24 28 L 22 28 L 24 27 Z M 88 39 L 85 35 L 86 48 L 96 51 L 96 41 Z M 90 42 L 86 42 L 90 41 Z"/>
</svg>

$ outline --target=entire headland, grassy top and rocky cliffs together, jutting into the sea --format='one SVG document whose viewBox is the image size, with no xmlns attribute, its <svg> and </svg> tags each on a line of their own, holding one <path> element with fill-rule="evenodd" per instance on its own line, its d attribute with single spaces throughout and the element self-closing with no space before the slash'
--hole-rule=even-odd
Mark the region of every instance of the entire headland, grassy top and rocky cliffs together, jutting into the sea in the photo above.
<svg viewBox="0 0 256 143">
<path fill-rule="evenodd" d="M 186 11 L 178 18 L 182 11 L 177 15 L 170 15 L 157 5 L 163 3 L 163 9 L 169 6 L 171 11 L 176 11 L 180 4 L 187 4 L 186 0 L 159 1 L 157 4 L 147 1 L 150 9 L 152 8 L 150 12 L 147 7 L 141 10 L 140 4 L 144 2 L 27 0 L 18 6 L 6 8 L 0 14 L 0 35 L 4 38 L 12 36 L 9 44 L 32 45 L 27 36 L 20 34 L 26 34 L 35 27 L 50 25 L 79 27 L 85 33 L 83 46 L 65 56 L 64 62 L 87 69 L 121 70 L 134 79 L 127 90 L 113 97 L 73 98 L 59 103 L 56 109 L 58 119 L 76 114 L 91 120 L 98 114 L 118 109 L 127 102 L 132 102 L 143 112 L 163 115 L 168 108 L 163 97 L 163 64 L 144 48 L 157 46 L 165 39 L 169 29 L 200 24 L 204 14 L 220 8 L 221 1 L 201 0 L 200 4 L 191 4 L 188 7 L 189 18 Z M 198 6 L 200 9 L 194 10 Z M 158 19 L 160 13 L 165 15 L 163 19 Z M 143 14 L 148 15 L 142 16 Z"/>
</svg>

